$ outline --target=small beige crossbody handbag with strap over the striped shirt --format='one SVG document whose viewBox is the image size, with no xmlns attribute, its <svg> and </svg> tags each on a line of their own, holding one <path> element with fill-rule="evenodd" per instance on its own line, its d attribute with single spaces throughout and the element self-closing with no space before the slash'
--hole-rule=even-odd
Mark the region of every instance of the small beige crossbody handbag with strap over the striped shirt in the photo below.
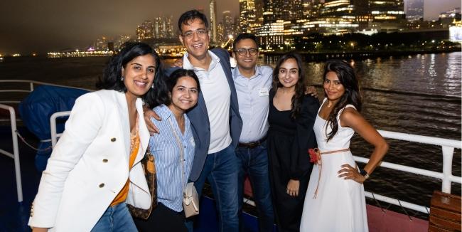
<svg viewBox="0 0 462 232">
<path fill-rule="evenodd" d="M 176 135 L 175 127 L 173 127 L 173 123 L 171 122 L 170 117 L 168 118 L 168 122 L 170 122 L 171 130 L 173 131 L 173 135 L 175 135 L 176 143 L 180 148 L 180 162 L 181 162 L 181 176 L 182 176 L 182 183 L 185 182 L 185 159 L 183 145 L 181 144 L 180 138 Z M 194 182 L 189 182 L 186 184 L 185 188 L 183 189 L 183 211 L 185 211 L 186 218 L 190 216 L 195 216 L 199 214 L 199 196 L 198 191 L 195 190 Z"/>
</svg>

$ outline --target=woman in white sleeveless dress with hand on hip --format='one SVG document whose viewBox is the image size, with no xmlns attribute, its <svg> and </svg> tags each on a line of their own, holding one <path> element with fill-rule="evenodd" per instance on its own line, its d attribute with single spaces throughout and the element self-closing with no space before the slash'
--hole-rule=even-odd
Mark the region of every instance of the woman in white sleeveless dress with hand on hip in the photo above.
<svg viewBox="0 0 462 232">
<path fill-rule="evenodd" d="M 313 130 L 318 149 L 306 192 L 300 231 L 368 231 L 362 183 L 388 150 L 385 139 L 360 115 L 361 97 L 353 68 L 343 60 L 329 60 L 324 70 L 323 100 Z M 350 152 L 358 134 L 374 146 L 360 169 Z"/>
</svg>

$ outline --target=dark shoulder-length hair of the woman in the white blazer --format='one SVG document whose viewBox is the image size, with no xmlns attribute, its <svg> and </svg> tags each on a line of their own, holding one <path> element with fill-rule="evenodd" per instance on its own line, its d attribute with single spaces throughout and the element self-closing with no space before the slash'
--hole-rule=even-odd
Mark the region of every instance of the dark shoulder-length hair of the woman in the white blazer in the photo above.
<svg viewBox="0 0 462 232">
<path fill-rule="evenodd" d="M 122 68 L 126 68 L 127 63 L 138 56 L 144 56 L 150 54 L 154 57 L 156 62 L 156 75 L 154 76 L 154 85 L 156 85 L 156 80 L 160 79 L 161 76 L 161 60 L 156 51 L 154 51 L 151 46 L 146 43 L 138 42 L 127 42 L 121 46 L 121 50 L 116 55 L 112 56 L 107 62 L 106 67 L 104 68 L 104 73 L 100 80 L 96 83 L 97 89 L 104 90 L 116 90 L 122 93 L 127 92 L 127 87 L 124 85 L 124 81 L 120 80 L 122 77 Z M 143 97 L 149 94 L 154 94 L 153 88 L 149 88 L 148 93 Z"/>
</svg>

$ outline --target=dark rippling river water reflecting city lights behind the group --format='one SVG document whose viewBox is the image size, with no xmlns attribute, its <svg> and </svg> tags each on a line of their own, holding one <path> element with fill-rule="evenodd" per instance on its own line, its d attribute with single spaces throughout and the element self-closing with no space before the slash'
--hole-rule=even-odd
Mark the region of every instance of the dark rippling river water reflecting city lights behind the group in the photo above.
<svg viewBox="0 0 462 232">
<path fill-rule="evenodd" d="M 360 78 L 362 115 L 374 127 L 461 140 L 461 52 L 349 61 Z M 107 57 L 6 58 L 0 62 L 0 79 L 40 80 L 94 89 L 106 62 Z M 308 83 L 318 86 L 321 99 L 322 73 L 323 62 L 306 64 Z M 442 172 L 441 147 L 387 141 L 390 151 L 385 162 Z M 351 150 L 355 155 L 369 157 L 372 147 L 355 135 Z M 460 149 L 454 154 L 453 174 L 461 176 Z M 441 191 L 441 181 L 379 167 L 365 183 L 365 189 L 429 206 L 433 191 Z M 452 192 L 461 195 L 461 185 L 453 184 Z"/>
</svg>

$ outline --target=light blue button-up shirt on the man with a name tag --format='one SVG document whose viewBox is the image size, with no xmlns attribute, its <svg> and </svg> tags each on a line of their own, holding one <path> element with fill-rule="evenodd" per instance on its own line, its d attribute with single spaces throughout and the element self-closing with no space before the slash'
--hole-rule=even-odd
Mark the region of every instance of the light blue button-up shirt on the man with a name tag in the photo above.
<svg viewBox="0 0 462 232">
<path fill-rule="evenodd" d="M 269 66 L 257 65 L 250 78 L 241 75 L 239 68 L 232 70 L 243 122 L 239 142 L 255 142 L 267 135 L 272 74 L 273 68 Z"/>
</svg>

